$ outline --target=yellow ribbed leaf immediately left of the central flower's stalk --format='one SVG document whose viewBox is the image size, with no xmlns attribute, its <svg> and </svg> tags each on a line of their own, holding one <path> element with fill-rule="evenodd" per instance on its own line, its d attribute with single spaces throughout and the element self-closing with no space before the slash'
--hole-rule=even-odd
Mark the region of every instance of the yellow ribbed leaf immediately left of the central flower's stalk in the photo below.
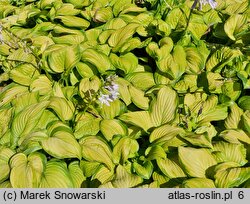
<svg viewBox="0 0 250 204">
<path fill-rule="evenodd" d="M 75 110 L 71 101 L 56 96 L 50 98 L 48 108 L 54 110 L 62 121 L 72 119 Z"/>
</svg>

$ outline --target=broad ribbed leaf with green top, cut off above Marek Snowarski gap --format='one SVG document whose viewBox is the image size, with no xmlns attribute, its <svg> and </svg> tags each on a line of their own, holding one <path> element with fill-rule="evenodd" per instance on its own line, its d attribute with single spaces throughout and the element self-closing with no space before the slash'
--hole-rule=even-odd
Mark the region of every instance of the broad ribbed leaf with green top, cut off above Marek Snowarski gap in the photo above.
<svg viewBox="0 0 250 204">
<path fill-rule="evenodd" d="M 51 160 L 46 164 L 39 188 L 73 188 L 66 163 Z"/>
</svg>

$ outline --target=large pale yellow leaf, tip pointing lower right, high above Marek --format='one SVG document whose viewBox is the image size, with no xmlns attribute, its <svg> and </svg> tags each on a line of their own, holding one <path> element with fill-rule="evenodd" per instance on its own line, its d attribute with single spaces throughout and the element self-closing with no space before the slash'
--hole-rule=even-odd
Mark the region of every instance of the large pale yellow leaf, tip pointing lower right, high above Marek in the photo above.
<svg viewBox="0 0 250 204">
<path fill-rule="evenodd" d="M 81 147 L 73 134 L 66 132 L 63 128 L 61 130 L 59 128 L 55 129 L 50 137 L 41 142 L 43 149 L 58 159 L 81 159 Z"/>
</svg>

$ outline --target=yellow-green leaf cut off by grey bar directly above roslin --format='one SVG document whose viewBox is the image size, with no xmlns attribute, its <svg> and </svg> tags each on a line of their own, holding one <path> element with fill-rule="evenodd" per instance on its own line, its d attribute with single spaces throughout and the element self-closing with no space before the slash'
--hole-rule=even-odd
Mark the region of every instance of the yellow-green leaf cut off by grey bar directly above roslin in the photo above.
<svg viewBox="0 0 250 204">
<path fill-rule="evenodd" d="M 182 183 L 183 188 L 215 188 L 214 182 L 207 178 L 191 178 Z"/>
</svg>

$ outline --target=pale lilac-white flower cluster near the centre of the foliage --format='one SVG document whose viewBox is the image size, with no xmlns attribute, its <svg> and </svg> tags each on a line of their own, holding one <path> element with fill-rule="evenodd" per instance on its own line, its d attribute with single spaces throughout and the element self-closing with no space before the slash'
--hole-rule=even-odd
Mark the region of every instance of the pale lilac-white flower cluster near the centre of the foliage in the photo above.
<svg viewBox="0 0 250 204">
<path fill-rule="evenodd" d="M 104 91 L 105 93 L 101 92 L 98 100 L 101 104 L 106 104 L 110 106 L 110 102 L 116 100 L 119 96 L 119 86 L 115 83 L 117 75 L 108 76 L 105 80 Z"/>
</svg>

